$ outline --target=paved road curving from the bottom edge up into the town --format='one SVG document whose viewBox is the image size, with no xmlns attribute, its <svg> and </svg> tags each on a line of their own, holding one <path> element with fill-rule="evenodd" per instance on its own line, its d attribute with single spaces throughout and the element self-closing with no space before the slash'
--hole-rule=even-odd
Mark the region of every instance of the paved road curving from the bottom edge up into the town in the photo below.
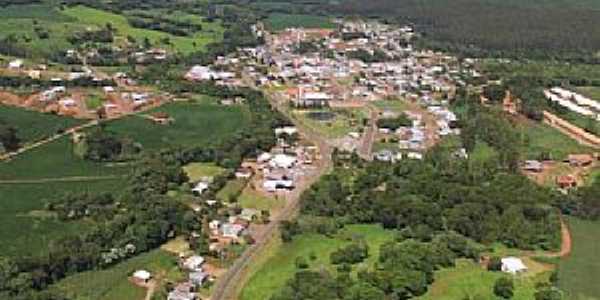
<svg viewBox="0 0 600 300">
<path fill-rule="evenodd" d="M 253 236 L 255 243 L 248 247 L 227 272 L 219 278 L 211 296 L 212 300 L 236 299 L 236 293 L 240 288 L 239 285 L 242 283 L 244 271 L 248 265 L 253 259 L 259 257 L 268 242 L 276 237 L 275 234 L 277 233 L 277 228 L 281 221 L 290 220 L 294 217 L 300 207 L 300 195 L 302 192 L 315 183 L 321 175 L 325 174 L 332 166 L 332 148 L 327 143 L 327 140 L 310 128 L 306 128 L 295 122 L 289 113 L 284 99 L 280 99 L 275 95 L 269 95 L 268 98 L 271 99 L 273 106 L 277 108 L 277 110 L 294 122 L 303 139 L 313 142 L 319 148 L 321 159 L 315 162 L 315 169 L 305 174 L 303 180 L 300 180 L 297 183 L 296 188 L 286 195 L 286 206 L 281 212 L 277 216 L 274 216 L 273 220 L 271 220 L 268 225 Z"/>
</svg>

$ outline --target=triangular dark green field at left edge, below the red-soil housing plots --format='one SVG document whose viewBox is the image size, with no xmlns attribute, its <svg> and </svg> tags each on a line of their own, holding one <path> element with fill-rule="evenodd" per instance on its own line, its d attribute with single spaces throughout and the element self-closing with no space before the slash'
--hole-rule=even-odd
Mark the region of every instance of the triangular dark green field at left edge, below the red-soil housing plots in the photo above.
<svg viewBox="0 0 600 300">
<path fill-rule="evenodd" d="M 43 114 L 6 105 L 0 105 L 0 121 L 17 128 L 17 136 L 22 143 L 40 140 L 60 129 L 83 123 L 70 117 Z"/>
</svg>

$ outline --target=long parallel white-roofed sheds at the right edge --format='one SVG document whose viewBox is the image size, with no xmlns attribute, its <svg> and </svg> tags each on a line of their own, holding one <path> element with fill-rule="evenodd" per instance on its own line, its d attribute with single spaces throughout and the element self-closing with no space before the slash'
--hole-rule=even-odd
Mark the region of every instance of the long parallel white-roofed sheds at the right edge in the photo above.
<svg viewBox="0 0 600 300">
<path fill-rule="evenodd" d="M 600 102 L 598 101 L 561 87 L 545 90 L 544 95 L 548 100 L 572 112 L 600 121 Z"/>
</svg>

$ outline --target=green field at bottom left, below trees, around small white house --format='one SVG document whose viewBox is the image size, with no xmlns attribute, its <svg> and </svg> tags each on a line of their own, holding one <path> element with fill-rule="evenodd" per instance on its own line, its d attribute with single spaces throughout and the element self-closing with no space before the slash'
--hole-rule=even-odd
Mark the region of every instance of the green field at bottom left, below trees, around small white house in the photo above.
<svg viewBox="0 0 600 300">
<path fill-rule="evenodd" d="M 128 277 L 139 269 L 161 279 L 180 280 L 175 256 L 154 250 L 128 259 L 106 270 L 88 271 L 67 277 L 51 287 L 69 299 L 142 300 L 146 290 L 133 285 Z"/>
</svg>

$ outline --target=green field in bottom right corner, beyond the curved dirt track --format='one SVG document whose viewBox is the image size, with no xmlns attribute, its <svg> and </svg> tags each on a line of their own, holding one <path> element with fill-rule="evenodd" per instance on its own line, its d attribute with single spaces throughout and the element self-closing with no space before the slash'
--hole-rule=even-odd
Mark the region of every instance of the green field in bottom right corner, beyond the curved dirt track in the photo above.
<svg viewBox="0 0 600 300">
<path fill-rule="evenodd" d="M 569 227 L 573 249 L 559 264 L 559 286 L 567 292 L 565 299 L 600 299 L 600 222 L 570 218 Z"/>
</svg>

